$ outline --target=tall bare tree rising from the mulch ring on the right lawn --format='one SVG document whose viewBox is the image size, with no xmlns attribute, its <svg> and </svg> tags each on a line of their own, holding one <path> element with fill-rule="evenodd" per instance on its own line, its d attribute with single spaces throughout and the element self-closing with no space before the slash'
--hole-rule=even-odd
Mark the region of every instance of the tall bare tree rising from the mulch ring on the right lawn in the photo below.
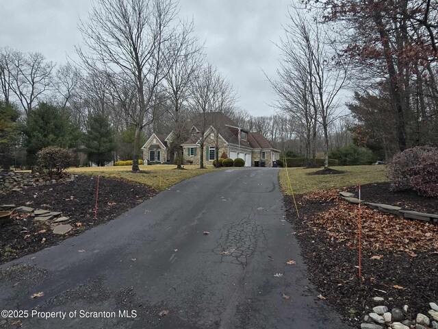
<svg viewBox="0 0 438 329">
<path fill-rule="evenodd" d="M 281 99 L 281 106 L 285 104 L 289 110 L 298 106 L 307 133 L 309 127 L 313 130 L 313 143 L 317 134 L 314 120 L 318 119 L 324 133 L 324 167 L 328 168 L 329 125 L 337 119 L 339 92 L 346 84 L 347 68 L 339 60 L 325 25 L 320 25 L 316 19 L 310 21 L 298 9 L 289 10 L 288 18 L 289 23 L 284 27 L 285 39 L 280 46 L 283 52 L 280 82 L 272 85 Z M 315 151 L 315 145 L 312 148 Z"/>
</svg>

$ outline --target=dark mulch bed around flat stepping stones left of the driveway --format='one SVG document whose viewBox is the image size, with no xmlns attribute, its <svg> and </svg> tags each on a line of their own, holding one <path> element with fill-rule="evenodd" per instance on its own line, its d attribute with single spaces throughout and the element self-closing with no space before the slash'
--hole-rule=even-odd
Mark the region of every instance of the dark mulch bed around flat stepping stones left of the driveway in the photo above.
<svg viewBox="0 0 438 329">
<path fill-rule="evenodd" d="M 0 226 L 0 264 L 81 234 L 157 194 L 144 185 L 100 178 L 97 219 L 94 219 L 96 183 L 96 177 L 79 175 L 73 182 L 32 186 L 1 195 L 0 204 L 62 212 L 70 217 L 73 230 L 64 235 L 53 234 L 47 224 L 34 221 L 30 215 L 14 213 L 12 223 Z"/>
</svg>

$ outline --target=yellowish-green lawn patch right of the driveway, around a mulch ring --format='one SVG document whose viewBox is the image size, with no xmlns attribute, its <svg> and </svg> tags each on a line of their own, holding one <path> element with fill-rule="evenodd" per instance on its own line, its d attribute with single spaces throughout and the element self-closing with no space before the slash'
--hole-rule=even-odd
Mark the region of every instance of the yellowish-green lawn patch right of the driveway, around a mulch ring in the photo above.
<svg viewBox="0 0 438 329">
<path fill-rule="evenodd" d="M 295 194 L 320 191 L 326 188 L 342 188 L 359 184 L 387 182 L 388 180 L 385 166 L 331 167 L 331 169 L 346 171 L 346 173 L 340 175 L 307 175 L 307 173 L 320 169 L 281 169 L 279 180 L 283 193 L 286 195 L 292 194 L 289 182 L 287 181 L 287 173 L 289 173 L 290 182 Z"/>
</svg>

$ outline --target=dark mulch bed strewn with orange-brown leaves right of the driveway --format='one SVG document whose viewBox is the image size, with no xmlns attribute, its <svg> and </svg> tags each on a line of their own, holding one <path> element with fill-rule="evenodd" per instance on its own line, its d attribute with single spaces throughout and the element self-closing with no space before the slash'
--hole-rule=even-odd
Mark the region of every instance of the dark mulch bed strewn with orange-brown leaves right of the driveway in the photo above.
<svg viewBox="0 0 438 329">
<path fill-rule="evenodd" d="M 392 193 L 388 185 L 363 186 L 363 199 L 409 205 L 438 213 L 438 200 L 415 193 Z M 354 189 L 350 188 L 354 192 Z M 389 309 L 407 304 L 411 319 L 428 314 L 438 301 L 438 226 L 409 221 L 363 207 L 361 278 L 358 256 L 358 207 L 338 197 L 338 190 L 298 195 L 300 219 L 292 197 L 285 197 L 313 284 L 344 319 L 360 328 L 363 315 L 384 297 Z"/>
</svg>

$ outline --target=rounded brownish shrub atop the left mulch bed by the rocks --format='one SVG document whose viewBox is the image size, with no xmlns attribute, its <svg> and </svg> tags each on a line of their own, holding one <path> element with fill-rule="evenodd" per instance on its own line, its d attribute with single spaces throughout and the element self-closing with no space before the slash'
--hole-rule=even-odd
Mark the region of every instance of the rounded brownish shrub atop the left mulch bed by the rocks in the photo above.
<svg viewBox="0 0 438 329">
<path fill-rule="evenodd" d="M 50 175 L 62 173 L 70 167 L 74 158 L 73 151 L 57 146 L 44 147 L 44 149 L 38 151 L 36 156 L 38 170 L 48 172 Z"/>
</svg>

